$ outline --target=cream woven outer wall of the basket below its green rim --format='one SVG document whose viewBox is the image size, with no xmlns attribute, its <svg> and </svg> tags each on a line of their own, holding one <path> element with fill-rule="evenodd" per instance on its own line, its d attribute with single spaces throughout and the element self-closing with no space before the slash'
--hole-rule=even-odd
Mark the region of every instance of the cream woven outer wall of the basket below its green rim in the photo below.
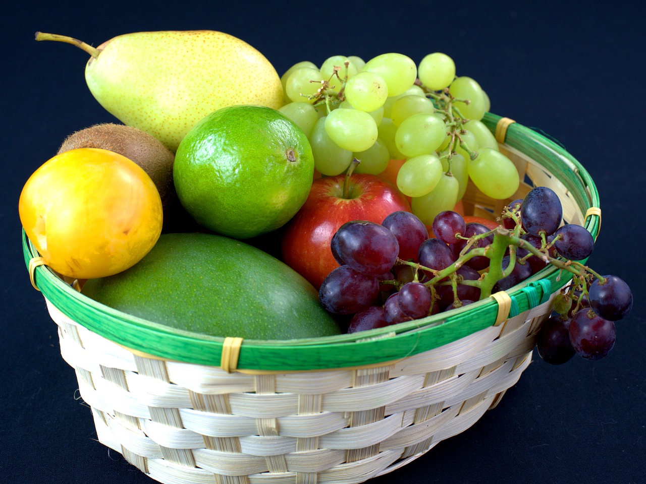
<svg viewBox="0 0 646 484">
<path fill-rule="evenodd" d="M 529 365 L 551 299 L 389 365 L 283 374 L 145 358 L 48 310 L 99 441 L 152 478 L 313 484 L 385 474 L 473 425 Z"/>
</svg>

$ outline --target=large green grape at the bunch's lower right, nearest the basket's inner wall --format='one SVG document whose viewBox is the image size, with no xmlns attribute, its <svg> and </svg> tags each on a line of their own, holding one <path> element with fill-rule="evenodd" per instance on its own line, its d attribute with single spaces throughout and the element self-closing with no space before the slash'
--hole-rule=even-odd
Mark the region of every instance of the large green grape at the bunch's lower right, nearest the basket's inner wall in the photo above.
<svg viewBox="0 0 646 484">
<path fill-rule="evenodd" d="M 483 194 L 493 199 L 514 196 L 520 177 L 514 163 L 501 152 L 481 148 L 469 163 L 469 176 Z"/>
</svg>

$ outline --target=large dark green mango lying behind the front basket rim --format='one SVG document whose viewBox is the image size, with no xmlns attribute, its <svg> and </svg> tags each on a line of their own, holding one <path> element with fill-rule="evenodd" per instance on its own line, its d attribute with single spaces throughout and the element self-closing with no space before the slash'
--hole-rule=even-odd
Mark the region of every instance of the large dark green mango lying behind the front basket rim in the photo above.
<svg viewBox="0 0 646 484">
<path fill-rule="evenodd" d="M 162 234 L 133 267 L 83 294 L 173 328 L 245 339 L 340 334 L 312 285 L 275 257 L 215 234 Z"/>
</svg>

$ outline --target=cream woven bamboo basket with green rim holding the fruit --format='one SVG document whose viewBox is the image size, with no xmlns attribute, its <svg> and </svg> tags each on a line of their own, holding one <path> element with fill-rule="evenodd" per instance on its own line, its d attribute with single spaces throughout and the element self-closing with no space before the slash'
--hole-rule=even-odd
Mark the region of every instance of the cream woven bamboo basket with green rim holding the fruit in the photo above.
<svg viewBox="0 0 646 484">
<path fill-rule="evenodd" d="M 594 237 L 598 193 L 561 146 L 510 119 L 486 125 L 521 174 L 507 200 L 475 187 L 490 216 L 533 186 Z M 548 266 L 463 309 L 359 334 L 291 341 L 213 338 L 120 313 L 79 294 L 23 232 L 25 262 L 59 329 L 61 355 L 98 439 L 162 483 L 359 483 L 391 472 L 475 423 L 532 360 L 552 297 Z"/>
</svg>

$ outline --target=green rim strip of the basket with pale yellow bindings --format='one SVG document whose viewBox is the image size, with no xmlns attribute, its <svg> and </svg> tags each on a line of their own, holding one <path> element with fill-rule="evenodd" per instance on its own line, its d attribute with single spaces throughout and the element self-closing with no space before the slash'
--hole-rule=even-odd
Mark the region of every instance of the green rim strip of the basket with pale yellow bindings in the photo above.
<svg viewBox="0 0 646 484">
<path fill-rule="evenodd" d="M 534 130 L 495 114 L 486 113 L 483 118 L 492 133 L 496 132 L 499 122 L 506 126 L 502 135 L 505 139 L 498 141 L 519 150 L 556 177 L 574 197 L 585 214 L 585 228 L 596 238 L 601 223 L 599 196 L 587 170 L 562 146 Z M 500 132 L 500 128 L 498 130 Z M 46 265 L 32 263 L 39 254 L 24 230 L 22 238 L 25 264 L 34 287 L 68 318 L 149 358 L 222 366 L 238 372 L 330 370 L 397 361 L 452 343 L 536 307 L 570 279 L 567 274 L 559 277 L 560 271 L 548 265 L 508 290 L 508 301 L 502 295 L 498 299 L 492 296 L 448 313 L 355 334 L 287 341 L 236 339 L 236 347 L 231 348 L 229 345 L 236 335 L 226 335 L 227 339 L 185 332 L 97 303 L 65 283 Z M 499 299 L 505 301 L 502 308 Z M 226 363 L 222 363 L 223 354 L 228 358 L 232 350 L 236 361 L 226 359 Z"/>
</svg>

